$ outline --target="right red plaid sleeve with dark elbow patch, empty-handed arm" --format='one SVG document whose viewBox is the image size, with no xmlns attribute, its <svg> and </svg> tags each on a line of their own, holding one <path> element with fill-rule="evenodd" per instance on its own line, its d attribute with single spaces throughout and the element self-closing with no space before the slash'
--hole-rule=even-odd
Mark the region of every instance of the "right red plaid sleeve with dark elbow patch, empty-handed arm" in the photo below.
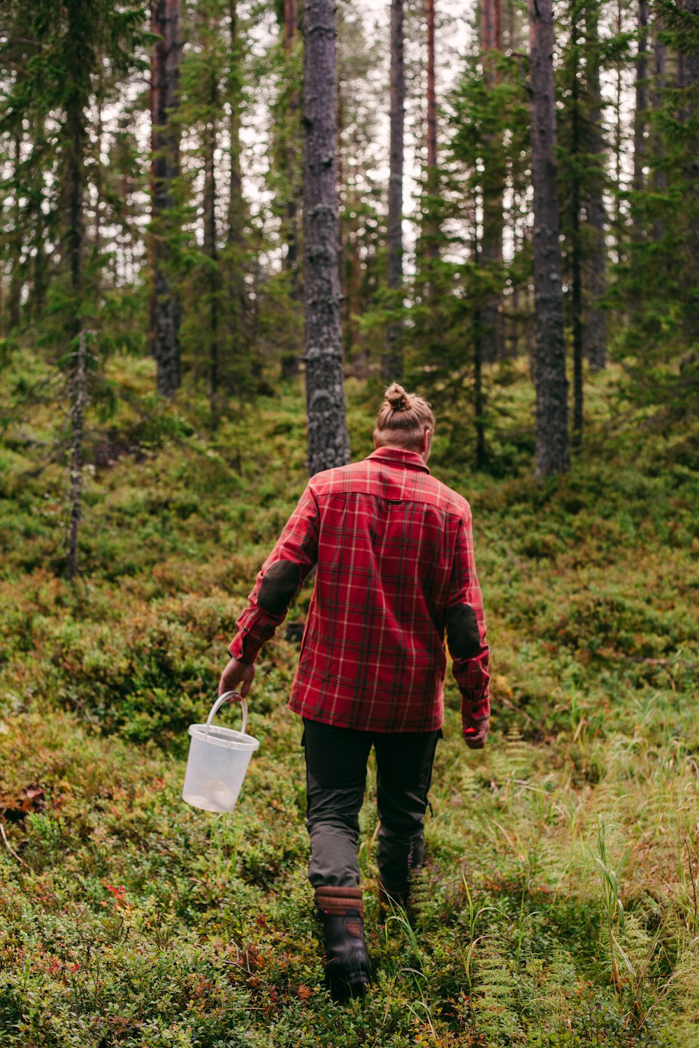
<svg viewBox="0 0 699 1048">
<path fill-rule="evenodd" d="M 490 649 L 476 574 L 471 510 L 462 519 L 457 534 L 444 620 L 465 725 L 466 717 L 481 720 L 490 714 Z"/>
</svg>

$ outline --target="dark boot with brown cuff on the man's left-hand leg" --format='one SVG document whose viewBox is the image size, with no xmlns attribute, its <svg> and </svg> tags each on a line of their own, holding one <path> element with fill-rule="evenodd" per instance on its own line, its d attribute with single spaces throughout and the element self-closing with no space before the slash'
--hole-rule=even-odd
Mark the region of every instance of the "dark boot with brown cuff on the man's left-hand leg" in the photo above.
<svg viewBox="0 0 699 1048">
<path fill-rule="evenodd" d="M 323 922 L 325 978 L 333 1001 L 364 996 L 370 980 L 364 941 L 364 902 L 361 888 L 315 889 L 315 905 Z"/>
</svg>

